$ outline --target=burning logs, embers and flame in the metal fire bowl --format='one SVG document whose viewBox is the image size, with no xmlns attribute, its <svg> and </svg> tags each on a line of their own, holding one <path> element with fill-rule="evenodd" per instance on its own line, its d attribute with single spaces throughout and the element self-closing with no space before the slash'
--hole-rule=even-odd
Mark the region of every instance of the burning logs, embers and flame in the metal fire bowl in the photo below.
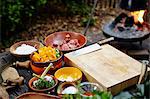
<svg viewBox="0 0 150 99">
<path fill-rule="evenodd" d="M 121 13 L 110 25 L 114 32 L 122 32 L 130 30 L 136 32 L 138 30 L 148 31 L 149 26 L 144 22 L 143 16 L 145 10 L 134 11 L 129 14 Z"/>
</svg>

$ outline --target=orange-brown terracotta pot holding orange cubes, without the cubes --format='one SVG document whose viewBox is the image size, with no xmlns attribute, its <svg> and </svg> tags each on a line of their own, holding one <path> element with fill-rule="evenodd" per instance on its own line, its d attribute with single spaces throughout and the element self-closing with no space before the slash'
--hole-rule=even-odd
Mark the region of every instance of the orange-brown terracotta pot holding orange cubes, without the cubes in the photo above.
<svg viewBox="0 0 150 99">
<path fill-rule="evenodd" d="M 48 61 L 48 62 L 34 62 L 32 60 L 33 53 L 30 55 L 30 66 L 33 72 L 36 74 L 42 74 L 46 67 L 50 64 L 53 63 L 53 66 L 50 68 L 49 73 L 53 74 L 55 70 L 59 69 L 62 64 L 63 64 L 63 53 L 61 52 L 61 56 L 54 61 Z"/>
</svg>

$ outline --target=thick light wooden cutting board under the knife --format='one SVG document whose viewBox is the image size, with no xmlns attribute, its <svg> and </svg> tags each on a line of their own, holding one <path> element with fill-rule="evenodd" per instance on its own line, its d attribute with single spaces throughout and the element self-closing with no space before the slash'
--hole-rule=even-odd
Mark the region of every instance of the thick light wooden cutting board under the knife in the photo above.
<svg viewBox="0 0 150 99">
<path fill-rule="evenodd" d="M 65 54 L 68 65 L 83 71 L 90 82 L 96 82 L 103 90 L 117 94 L 138 82 L 142 64 L 111 45 L 79 56 Z"/>
</svg>

